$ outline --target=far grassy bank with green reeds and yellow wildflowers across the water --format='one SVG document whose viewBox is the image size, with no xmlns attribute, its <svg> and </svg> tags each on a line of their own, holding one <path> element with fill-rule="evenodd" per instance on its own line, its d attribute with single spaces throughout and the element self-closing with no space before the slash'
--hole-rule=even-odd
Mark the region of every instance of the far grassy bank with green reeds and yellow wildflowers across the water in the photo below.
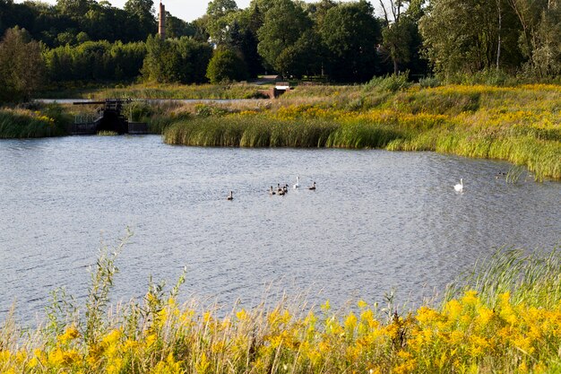
<svg viewBox="0 0 561 374">
<path fill-rule="evenodd" d="M 164 141 L 436 151 L 511 161 L 536 178 L 561 178 L 560 86 L 313 86 L 252 106 L 184 107 L 192 116 L 177 119 L 174 109 Z"/>
</svg>

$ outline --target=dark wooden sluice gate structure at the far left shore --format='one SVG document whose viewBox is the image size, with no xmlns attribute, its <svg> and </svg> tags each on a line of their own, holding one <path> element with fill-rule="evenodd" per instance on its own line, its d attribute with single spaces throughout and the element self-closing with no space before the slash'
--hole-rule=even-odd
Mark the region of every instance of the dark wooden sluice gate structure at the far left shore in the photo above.
<svg viewBox="0 0 561 374">
<path fill-rule="evenodd" d="M 148 134 L 148 125 L 141 122 L 129 122 L 122 113 L 123 104 L 130 100 L 106 99 L 103 101 L 80 101 L 73 105 L 102 105 L 95 115 L 76 116 L 68 128 L 71 135 L 96 135 L 99 132 L 113 132 L 118 135 Z"/>
</svg>

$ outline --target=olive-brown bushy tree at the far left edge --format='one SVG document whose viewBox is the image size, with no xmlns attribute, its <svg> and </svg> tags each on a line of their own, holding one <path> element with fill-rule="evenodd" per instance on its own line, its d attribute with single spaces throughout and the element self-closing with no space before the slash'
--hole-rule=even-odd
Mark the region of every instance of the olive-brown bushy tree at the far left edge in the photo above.
<svg viewBox="0 0 561 374">
<path fill-rule="evenodd" d="M 17 27 L 0 41 L 0 101 L 30 100 L 43 83 L 45 64 L 39 43 Z"/>
</svg>

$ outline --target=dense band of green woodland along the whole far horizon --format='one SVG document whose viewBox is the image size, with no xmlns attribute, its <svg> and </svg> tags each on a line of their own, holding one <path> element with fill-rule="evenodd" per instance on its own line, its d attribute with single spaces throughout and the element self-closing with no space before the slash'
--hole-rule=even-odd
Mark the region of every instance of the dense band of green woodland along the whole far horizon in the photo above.
<svg viewBox="0 0 561 374">
<path fill-rule="evenodd" d="M 0 0 L 0 100 L 67 82 L 220 83 L 257 74 L 362 83 L 374 76 L 558 80 L 558 0 L 213 0 L 194 22 L 152 0 Z M 375 13 L 375 7 L 379 12 Z M 379 13 L 379 14 L 378 14 Z"/>
</svg>

